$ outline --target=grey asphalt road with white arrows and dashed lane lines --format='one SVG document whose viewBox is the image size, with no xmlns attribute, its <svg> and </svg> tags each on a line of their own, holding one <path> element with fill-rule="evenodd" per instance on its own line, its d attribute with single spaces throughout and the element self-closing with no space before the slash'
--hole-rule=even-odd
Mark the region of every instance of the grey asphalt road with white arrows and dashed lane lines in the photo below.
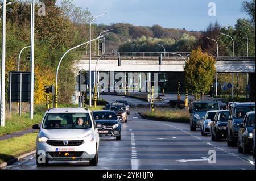
<svg viewBox="0 0 256 181">
<path fill-rule="evenodd" d="M 85 169 L 85 170 L 255 170 L 252 155 L 238 153 L 237 147 L 228 147 L 226 141 L 210 141 L 200 131 L 189 131 L 188 123 L 170 123 L 142 119 L 131 109 L 129 120 L 122 123 L 121 141 L 113 137 L 100 138 L 99 162 L 89 166 L 84 162 L 49 162 L 36 167 L 35 155 L 7 166 L 6 169 Z M 209 150 L 216 151 L 216 163 L 209 163 Z"/>
</svg>

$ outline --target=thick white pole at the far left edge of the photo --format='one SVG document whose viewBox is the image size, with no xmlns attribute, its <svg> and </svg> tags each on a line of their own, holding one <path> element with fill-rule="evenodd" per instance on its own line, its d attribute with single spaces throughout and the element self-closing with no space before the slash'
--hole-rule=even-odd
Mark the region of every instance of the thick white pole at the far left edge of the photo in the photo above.
<svg viewBox="0 0 256 181">
<path fill-rule="evenodd" d="M 1 127 L 5 127 L 5 50 L 6 50 L 6 0 L 3 0 L 2 74 L 1 74 Z"/>
</svg>

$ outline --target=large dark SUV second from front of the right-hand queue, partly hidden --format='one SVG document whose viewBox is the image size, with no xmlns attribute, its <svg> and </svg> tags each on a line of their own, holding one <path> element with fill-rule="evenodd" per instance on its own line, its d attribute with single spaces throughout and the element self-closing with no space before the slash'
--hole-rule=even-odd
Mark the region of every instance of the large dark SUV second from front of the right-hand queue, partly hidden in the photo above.
<svg viewBox="0 0 256 181">
<path fill-rule="evenodd" d="M 228 146 L 237 146 L 239 125 L 242 123 L 246 113 L 250 111 L 255 111 L 255 102 L 231 104 L 227 125 Z"/>
</svg>

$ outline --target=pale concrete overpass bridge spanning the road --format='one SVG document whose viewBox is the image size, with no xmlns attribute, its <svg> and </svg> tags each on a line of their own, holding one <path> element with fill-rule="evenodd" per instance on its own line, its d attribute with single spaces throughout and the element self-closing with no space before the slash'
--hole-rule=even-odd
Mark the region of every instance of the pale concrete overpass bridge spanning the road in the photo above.
<svg viewBox="0 0 256 181">
<path fill-rule="evenodd" d="M 109 52 L 110 53 L 110 52 Z M 183 72 L 184 58 L 176 55 L 163 55 L 162 65 L 159 65 L 158 52 L 119 52 L 121 66 L 117 65 L 118 54 L 110 54 L 101 58 L 97 63 L 97 71 L 120 72 Z M 150 54 L 149 54 L 150 53 Z M 177 53 L 189 58 L 189 53 Z M 100 56 L 92 56 L 92 71 Z M 89 71 L 89 56 L 80 54 L 76 64 L 79 70 Z M 217 73 L 255 73 L 255 57 L 217 57 Z"/>
</svg>

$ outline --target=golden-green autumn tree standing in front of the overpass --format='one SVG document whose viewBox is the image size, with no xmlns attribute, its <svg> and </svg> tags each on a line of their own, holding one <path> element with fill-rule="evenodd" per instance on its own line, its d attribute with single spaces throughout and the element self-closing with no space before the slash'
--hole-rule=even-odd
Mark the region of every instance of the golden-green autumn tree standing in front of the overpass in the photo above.
<svg viewBox="0 0 256 181">
<path fill-rule="evenodd" d="M 187 61 L 184 74 L 185 85 L 195 95 L 195 99 L 202 98 L 210 91 L 216 74 L 214 58 L 203 54 L 201 47 L 192 50 L 191 57 Z"/>
</svg>

